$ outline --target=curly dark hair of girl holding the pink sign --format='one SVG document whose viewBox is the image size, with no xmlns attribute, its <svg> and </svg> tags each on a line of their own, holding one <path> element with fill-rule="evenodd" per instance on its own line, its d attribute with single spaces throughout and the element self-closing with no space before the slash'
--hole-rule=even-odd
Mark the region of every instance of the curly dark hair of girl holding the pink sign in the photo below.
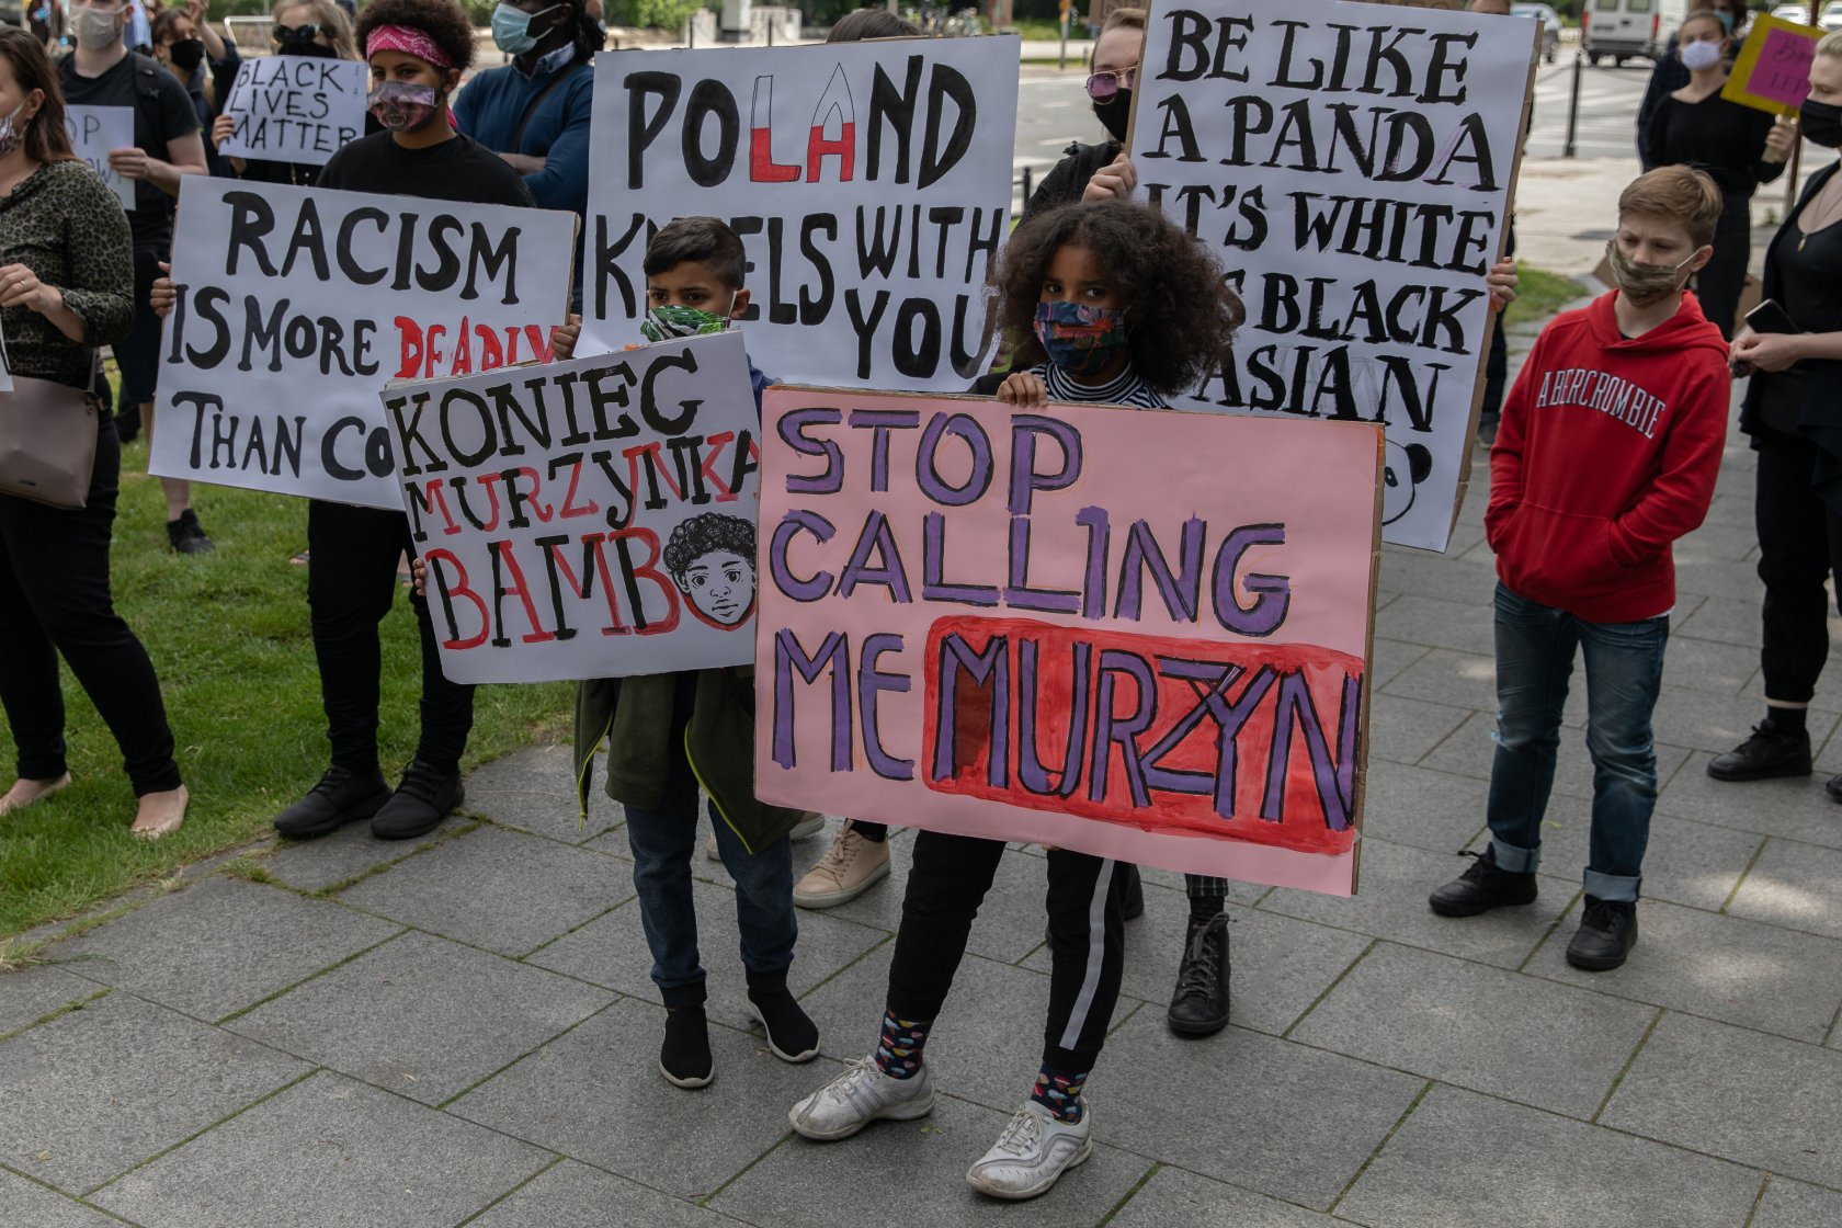
<svg viewBox="0 0 1842 1228">
<path fill-rule="evenodd" d="M 1125 296 L 1133 372 L 1155 390 L 1190 392 L 1227 361 L 1247 311 L 1216 256 L 1149 204 L 1076 201 L 1019 225 L 998 261 L 998 322 L 1017 346 L 1013 368 L 1046 357 L 1035 309 L 1063 247 L 1087 249 Z"/>
</svg>

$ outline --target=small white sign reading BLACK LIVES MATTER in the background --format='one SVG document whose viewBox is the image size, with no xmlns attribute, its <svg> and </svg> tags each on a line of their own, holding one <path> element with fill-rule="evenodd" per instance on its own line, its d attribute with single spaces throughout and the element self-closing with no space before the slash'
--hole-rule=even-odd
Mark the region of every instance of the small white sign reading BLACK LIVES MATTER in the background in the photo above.
<svg viewBox="0 0 1842 1228">
<path fill-rule="evenodd" d="M 236 127 L 217 153 L 324 166 L 365 131 L 368 79 L 370 68 L 356 59 L 245 59 L 223 107 Z"/>
</svg>

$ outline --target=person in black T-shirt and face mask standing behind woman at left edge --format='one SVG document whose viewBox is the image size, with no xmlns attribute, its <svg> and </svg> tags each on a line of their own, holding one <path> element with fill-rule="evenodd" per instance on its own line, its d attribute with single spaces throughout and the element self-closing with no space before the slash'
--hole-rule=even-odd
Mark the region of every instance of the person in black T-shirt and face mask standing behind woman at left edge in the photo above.
<svg viewBox="0 0 1842 1228">
<path fill-rule="evenodd" d="M 118 403 L 123 407 L 123 440 L 133 438 L 142 423 L 149 436 L 153 433 L 160 320 L 147 306 L 147 293 L 173 243 L 179 179 L 208 173 L 192 96 L 157 61 L 123 46 L 125 15 L 125 7 L 111 7 L 109 0 L 72 0 L 77 50 L 57 64 L 68 103 L 134 110 L 134 144 L 109 151 L 111 169 L 134 180 L 134 208 L 127 215 L 134 234 L 134 324 L 127 339 L 114 344 L 122 368 Z M 212 541 L 192 510 L 192 482 L 162 477 L 160 488 L 166 492 L 166 534 L 173 549 L 182 554 L 210 550 Z"/>
</svg>

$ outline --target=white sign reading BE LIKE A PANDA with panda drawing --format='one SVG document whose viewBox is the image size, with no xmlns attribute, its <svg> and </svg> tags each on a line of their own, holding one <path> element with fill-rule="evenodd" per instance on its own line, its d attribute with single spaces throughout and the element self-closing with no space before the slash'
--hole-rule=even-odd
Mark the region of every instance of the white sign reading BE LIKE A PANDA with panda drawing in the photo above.
<svg viewBox="0 0 1842 1228">
<path fill-rule="evenodd" d="M 1442 550 L 1470 468 L 1533 22 L 1339 0 L 1153 7 L 1140 195 L 1247 304 L 1184 409 L 1387 425 L 1385 541 Z"/>
</svg>

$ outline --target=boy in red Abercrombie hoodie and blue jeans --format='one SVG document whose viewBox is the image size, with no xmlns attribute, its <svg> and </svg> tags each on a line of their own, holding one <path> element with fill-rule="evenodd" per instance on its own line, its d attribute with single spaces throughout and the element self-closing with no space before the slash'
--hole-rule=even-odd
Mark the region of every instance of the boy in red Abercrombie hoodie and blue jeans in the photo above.
<svg viewBox="0 0 1842 1228">
<path fill-rule="evenodd" d="M 1485 532 L 1498 556 L 1490 847 L 1433 891 L 1444 917 L 1534 900 L 1560 709 L 1586 655 L 1593 757 L 1586 911 L 1568 963 L 1604 970 L 1638 941 L 1656 806 L 1650 712 L 1676 604 L 1671 543 L 1708 514 L 1728 365 L 1689 276 L 1713 256 L 1720 190 L 1665 166 L 1619 197 L 1617 289 L 1542 330 L 1503 405 Z"/>
</svg>

